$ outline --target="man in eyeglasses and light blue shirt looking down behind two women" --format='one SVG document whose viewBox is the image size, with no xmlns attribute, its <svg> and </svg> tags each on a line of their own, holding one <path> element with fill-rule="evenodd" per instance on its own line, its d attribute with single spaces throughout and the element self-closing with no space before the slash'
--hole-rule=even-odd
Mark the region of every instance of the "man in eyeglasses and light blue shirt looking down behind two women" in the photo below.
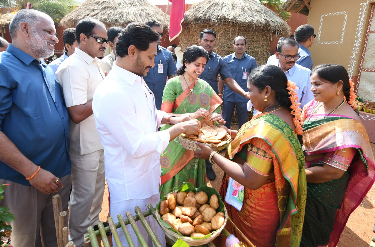
<svg viewBox="0 0 375 247">
<path fill-rule="evenodd" d="M 300 58 L 298 43 L 294 39 L 284 39 L 278 45 L 276 58 L 279 60 L 279 68 L 287 75 L 288 80 L 296 83 L 296 92 L 302 108 L 314 99 L 311 92 L 311 70 L 296 63 Z"/>
</svg>

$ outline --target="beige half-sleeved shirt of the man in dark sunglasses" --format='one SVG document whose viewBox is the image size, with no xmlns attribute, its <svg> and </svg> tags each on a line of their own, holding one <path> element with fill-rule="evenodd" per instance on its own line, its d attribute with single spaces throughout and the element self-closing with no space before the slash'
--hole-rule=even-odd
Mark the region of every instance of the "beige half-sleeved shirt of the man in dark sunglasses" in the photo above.
<svg viewBox="0 0 375 247">
<path fill-rule="evenodd" d="M 63 89 L 66 107 L 92 100 L 96 87 L 105 77 L 99 63 L 98 58 L 92 58 L 76 48 L 74 54 L 58 66 L 56 75 Z M 71 120 L 70 138 L 69 152 L 83 155 L 103 149 L 93 114 L 78 124 Z"/>
</svg>

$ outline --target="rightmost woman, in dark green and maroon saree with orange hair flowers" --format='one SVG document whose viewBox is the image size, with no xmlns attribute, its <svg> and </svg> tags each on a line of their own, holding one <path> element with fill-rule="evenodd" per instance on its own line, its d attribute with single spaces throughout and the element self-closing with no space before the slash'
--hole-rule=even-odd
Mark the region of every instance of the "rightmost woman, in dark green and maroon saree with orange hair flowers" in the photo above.
<svg viewBox="0 0 375 247">
<path fill-rule="evenodd" d="M 374 156 L 353 110 L 354 83 L 346 69 L 319 65 L 311 84 L 314 100 L 303 109 L 307 200 L 300 246 L 335 247 L 349 215 L 374 184 Z"/>
</svg>

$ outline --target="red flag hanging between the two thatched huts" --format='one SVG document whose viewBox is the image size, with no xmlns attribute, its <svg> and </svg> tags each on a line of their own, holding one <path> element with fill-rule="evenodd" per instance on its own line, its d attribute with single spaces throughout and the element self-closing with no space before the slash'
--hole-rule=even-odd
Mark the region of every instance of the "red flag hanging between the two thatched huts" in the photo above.
<svg viewBox="0 0 375 247">
<path fill-rule="evenodd" d="M 185 0 L 168 0 L 172 3 L 171 23 L 169 24 L 169 41 L 174 40 L 182 31 L 185 14 Z"/>
</svg>

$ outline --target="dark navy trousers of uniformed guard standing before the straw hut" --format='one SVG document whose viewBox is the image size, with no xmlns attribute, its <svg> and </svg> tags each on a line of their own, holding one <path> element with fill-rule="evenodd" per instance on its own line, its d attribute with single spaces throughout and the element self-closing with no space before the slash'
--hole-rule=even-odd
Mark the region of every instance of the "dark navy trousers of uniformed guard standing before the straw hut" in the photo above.
<svg viewBox="0 0 375 247">
<path fill-rule="evenodd" d="M 226 120 L 225 127 L 229 129 L 233 117 L 234 106 L 237 110 L 238 128 L 240 129 L 248 116 L 248 107 L 246 102 L 223 101 L 223 119 Z M 206 163 L 207 164 L 207 163 Z"/>
</svg>

